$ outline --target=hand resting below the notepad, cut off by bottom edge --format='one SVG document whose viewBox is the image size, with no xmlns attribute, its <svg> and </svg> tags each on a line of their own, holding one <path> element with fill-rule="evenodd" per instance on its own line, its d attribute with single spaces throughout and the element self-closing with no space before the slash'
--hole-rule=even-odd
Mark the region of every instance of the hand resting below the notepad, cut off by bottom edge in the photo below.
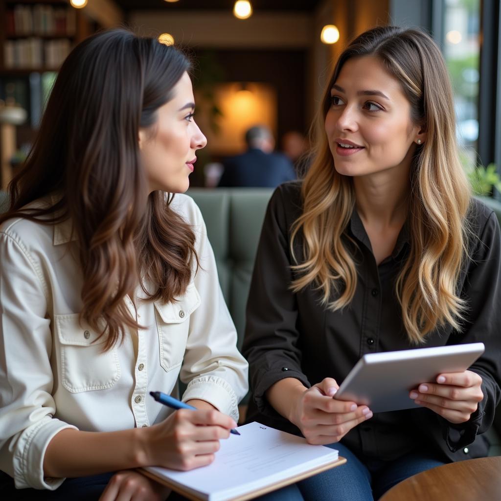
<svg viewBox="0 0 501 501">
<path fill-rule="evenodd" d="M 165 501 L 170 492 L 165 485 L 138 471 L 123 470 L 110 478 L 99 501 Z"/>
</svg>

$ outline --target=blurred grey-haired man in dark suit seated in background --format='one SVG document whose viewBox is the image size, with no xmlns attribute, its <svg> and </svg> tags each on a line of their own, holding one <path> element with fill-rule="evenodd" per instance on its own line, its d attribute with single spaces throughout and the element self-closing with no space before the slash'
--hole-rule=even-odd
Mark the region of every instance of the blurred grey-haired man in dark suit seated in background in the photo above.
<svg viewBox="0 0 501 501">
<path fill-rule="evenodd" d="M 267 127 L 258 125 L 245 133 L 247 151 L 224 162 L 219 187 L 275 188 L 296 179 L 292 162 L 282 153 L 274 153 L 275 139 Z"/>
</svg>

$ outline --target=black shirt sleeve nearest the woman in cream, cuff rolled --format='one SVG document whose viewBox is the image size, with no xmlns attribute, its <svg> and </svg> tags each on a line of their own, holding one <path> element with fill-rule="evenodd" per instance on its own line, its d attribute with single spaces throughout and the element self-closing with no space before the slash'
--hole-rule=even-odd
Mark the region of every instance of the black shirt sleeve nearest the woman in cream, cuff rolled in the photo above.
<svg viewBox="0 0 501 501">
<path fill-rule="evenodd" d="M 284 191 L 279 187 L 273 194 L 263 223 L 242 347 L 249 362 L 253 397 L 258 409 L 269 415 L 276 415 L 265 397 L 273 384 L 292 377 L 310 386 L 301 370 L 296 295 L 289 289 L 293 277 Z"/>
</svg>

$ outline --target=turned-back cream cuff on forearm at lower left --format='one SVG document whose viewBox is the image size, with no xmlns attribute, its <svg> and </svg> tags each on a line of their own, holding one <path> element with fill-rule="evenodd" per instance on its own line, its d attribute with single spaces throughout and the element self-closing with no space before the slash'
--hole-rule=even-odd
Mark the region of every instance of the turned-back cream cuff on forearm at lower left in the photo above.
<svg viewBox="0 0 501 501">
<path fill-rule="evenodd" d="M 17 489 L 54 490 L 63 483 L 65 478 L 44 477 L 44 456 L 54 435 L 66 428 L 78 429 L 59 419 L 46 417 L 22 433 L 13 458 Z"/>
</svg>

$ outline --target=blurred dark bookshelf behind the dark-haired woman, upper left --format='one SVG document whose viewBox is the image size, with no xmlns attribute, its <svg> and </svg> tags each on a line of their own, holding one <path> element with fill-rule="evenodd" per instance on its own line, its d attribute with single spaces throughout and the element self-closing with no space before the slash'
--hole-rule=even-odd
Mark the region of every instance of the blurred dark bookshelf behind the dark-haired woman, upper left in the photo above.
<svg viewBox="0 0 501 501">
<path fill-rule="evenodd" d="M 26 122 L 15 128 L 14 141 L 12 132 L 5 140 L 7 126 L 0 123 L 0 189 L 12 177 L 6 166 L 10 156 L 22 157 L 33 144 L 44 103 L 66 56 L 101 28 L 92 10 L 75 9 L 68 0 L 0 0 L 0 100 L 27 111 Z"/>
</svg>

